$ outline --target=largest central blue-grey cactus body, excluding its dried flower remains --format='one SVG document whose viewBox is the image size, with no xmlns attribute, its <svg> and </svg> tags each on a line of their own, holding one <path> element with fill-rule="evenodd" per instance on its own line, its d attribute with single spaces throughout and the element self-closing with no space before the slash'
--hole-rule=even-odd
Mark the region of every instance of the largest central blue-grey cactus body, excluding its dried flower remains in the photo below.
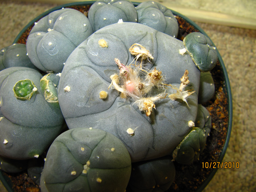
<svg viewBox="0 0 256 192">
<path fill-rule="evenodd" d="M 107 48 L 99 46 L 100 39 L 105 39 Z M 117 90 L 108 89 L 110 76 L 119 73 L 114 59 L 129 65 L 134 56 L 128 49 L 135 43 L 154 57 L 143 66 L 162 71 L 167 84 L 179 87 L 185 70 L 189 71 L 185 90 L 196 91 L 187 99 L 189 106 L 163 95 L 147 117 L 133 99 L 123 99 Z M 72 52 L 61 73 L 58 96 L 68 127 L 86 125 L 112 133 L 124 142 L 133 162 L 170 154 L 189 132 L 188 122 L 195 121 L 197 111 L 200 71 L 189 55 L 179 53 L 182 48 L 182 41 L 139 23 L 116 23 L 96 31 Z M 166 94 L 177 92 L 166 87 Z M 108 97 L 99 99 L 100 91 Z M 129 128 L 135 130 L 133 136 Z"/>
</svg>

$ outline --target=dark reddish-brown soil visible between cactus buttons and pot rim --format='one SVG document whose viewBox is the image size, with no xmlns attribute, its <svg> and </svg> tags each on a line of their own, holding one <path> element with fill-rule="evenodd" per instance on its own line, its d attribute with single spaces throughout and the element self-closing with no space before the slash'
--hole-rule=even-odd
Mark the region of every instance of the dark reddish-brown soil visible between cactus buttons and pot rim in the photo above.
<svg viewBox="0 0 256 192">
<path fill-rule="evenodd" d="M 69 8 L 79 10 L 87 16 L 90 6 L 81 5 L 72 6 Z M 198 31 L 179 16 L 176 16 L 176 19 L 178 20 L 179 24 L 179 33 L 177 37 L 178 39 L 183 40 L 187 34 Z M 27 37 L 32 27 L 33 26 L 29 27 L 29 29 L 23 33 L 23 35 L 18 40 L 18 43 L 26 44 Z M 219 156 L 223 150 L 223 146 L 227 137 L 229 114 L 227 111 L 228 101 L 225 80 L 223 79 L 223 70 L 219 61 L 216 67 L 212 69 L 211 74 L 215 83 L 215 95 L 209 102 L 203 105 L 210 112 L 212 119 L 212 129 L 210 136 L 207 138 L 206 147 L 200 155 L 199 161 L 193 163 L 193 165 L 180 165 L 174 162 L 176 167 L 176 178 L 168 192 L 196 191 L 213 171 L 212 168 L 203 168 L 202 162 L 218 162 Z M 18 174 L 5 174 L 11 178 L 15 192 L 40 191 L 39 186 L 36 185 L 33 180 L 28 177 L 27 172 Z"/>
</svg>

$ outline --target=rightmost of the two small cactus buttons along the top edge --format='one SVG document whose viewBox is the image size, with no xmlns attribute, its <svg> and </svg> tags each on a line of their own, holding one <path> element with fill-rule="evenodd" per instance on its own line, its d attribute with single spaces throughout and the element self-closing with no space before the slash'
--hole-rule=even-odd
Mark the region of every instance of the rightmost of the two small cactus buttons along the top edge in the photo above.
<svg viewBox="0 0 256 192">
<path fill-rule="evenodd" d="M 178 22 L 170 9 L 158 2 L 146 1 L 139 4 L 136 11 L 138 13 L 138 23 L 177 37 Z"/>
</svg>

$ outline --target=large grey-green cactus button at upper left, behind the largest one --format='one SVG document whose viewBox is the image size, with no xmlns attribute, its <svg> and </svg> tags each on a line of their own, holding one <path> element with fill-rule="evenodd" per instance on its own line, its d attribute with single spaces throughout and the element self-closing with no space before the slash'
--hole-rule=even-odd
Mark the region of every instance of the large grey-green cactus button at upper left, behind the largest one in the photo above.
<svg viewBox="0 0 256 192">
<path fill-rule="evenodd" d="M 72 51 L 93 29 L 87 17 L 74 9 L 53 11 L 35 23 L 27 38 L 32 63 L 44 72 L 61 72 Z"/>
</svg>

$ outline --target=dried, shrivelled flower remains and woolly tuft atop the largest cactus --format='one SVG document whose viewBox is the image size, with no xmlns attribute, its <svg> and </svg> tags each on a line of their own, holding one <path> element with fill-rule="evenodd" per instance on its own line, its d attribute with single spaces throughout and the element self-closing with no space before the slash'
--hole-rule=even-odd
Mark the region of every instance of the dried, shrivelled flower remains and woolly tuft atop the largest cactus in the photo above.
<svg viewBox="0 0 256 192">
<path fill-rule="evenodd" d="M 119 73 L 110 76 L 112 80 L 109 89 L 116 89 L 120 92 L 121 98 L 131 98 L 135 105 L 138 105 L 140 111 L 143 111 L 146 116 L 150 116 L 153 109 L 156 109 L 155 103 L 159 99 L 166 98 L 166 86 L 171 86 L 177 92 L 170 94 L 168 97 L 172 100 L 181 99 L 187 103 L 186 98 L 195 91 L 184 91 L 183 89 L 188 85 L 188 71 L 186 70 L 181 78 L 181 85 L 179 88 L 166 84 L 162 72 L 156 68 L 150 70 L 142 66 L 143 60 L 154 59 L 152 54 L 140 44 L 133 44 L 129 51 L 135 55 L 135 64 L 124 65 L 117 58 L 114 59 L 119 68 Z M 139 65 L 136 64 L 138 59 L 141 59 Z M 191 91 L 191 92 L 189 92 Z M 188 103 L 187 103 L 188 105 Z"/>
</svg>

